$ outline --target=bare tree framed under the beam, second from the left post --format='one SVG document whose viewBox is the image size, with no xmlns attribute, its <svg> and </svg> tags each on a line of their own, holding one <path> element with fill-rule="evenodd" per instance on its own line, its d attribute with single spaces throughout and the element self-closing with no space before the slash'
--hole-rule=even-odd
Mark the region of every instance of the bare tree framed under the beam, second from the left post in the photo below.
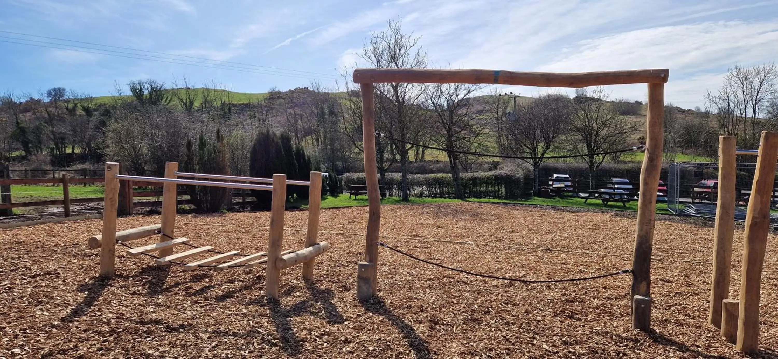
<svg viewBox="0 0 778 359">
<path fill-rule="evenodd" d="M 436 130 L 433 136 L 437 147 L 445 148 L 451 179 L 454 180 L 454 194 L 464 199 L 460 181 L 460 157 L 457 152 L 472 152 L 483 138 L 483 121 L 471 110 L 473 92 L 482 89 L 479 85 L 434 84 L 426 88 L 426 102 L 433 113 Z"/>
</svg>

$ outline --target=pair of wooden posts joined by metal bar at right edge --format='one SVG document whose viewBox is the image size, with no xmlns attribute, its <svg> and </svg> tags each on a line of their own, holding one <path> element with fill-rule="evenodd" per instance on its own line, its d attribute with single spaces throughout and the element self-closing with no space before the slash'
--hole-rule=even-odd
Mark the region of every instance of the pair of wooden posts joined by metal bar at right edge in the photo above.
<svg viewBox="0 0 778 359">
<path fill-rule="evenodd" d="M 708 322 L 719 328 L 721 336 L 734 343 L 738 350 L 755 354 L 759 345 L 759 291 L 770 228 L 778 132 L 762 131 L 759 151 L 738 150 L 736 141 L 734 136 L 719 137 L 719 183 Z M 737 300 L 728 298 L 734 239 L 736 155 L 758 156 L 745 216 L 743 267 Z"/>
</svg>

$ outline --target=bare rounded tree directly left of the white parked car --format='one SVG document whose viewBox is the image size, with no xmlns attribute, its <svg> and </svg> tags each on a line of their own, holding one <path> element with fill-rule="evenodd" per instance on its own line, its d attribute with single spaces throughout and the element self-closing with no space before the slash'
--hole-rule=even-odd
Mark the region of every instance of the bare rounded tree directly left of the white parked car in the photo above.
<svg viewBox="0 0 778 359">
<path fill-rule="evenodd" d="M 521 103 L 507 126 L 507 148 L 512 155 L 523 159 L 533 169 L 533 189 L 538 193 L 539 169 L 546 156 L 565 134 L 573 114 L 573 102 L 566 95 L 546 94 Z"/>
</svg>

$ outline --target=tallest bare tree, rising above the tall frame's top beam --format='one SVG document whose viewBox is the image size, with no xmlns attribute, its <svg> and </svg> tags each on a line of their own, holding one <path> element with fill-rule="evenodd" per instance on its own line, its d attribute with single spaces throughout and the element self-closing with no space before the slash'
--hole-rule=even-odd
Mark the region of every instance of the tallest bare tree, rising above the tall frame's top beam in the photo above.
<svg viewBox="0 0 778 359">
<path fill-rule="evenodd" d="M 373 68 L 426 68 L 427 53 L 419 45 L 421 37 L 403 33 L 401 20 L 390 20 L 386 30 L 373 33 L 359 56 Z M 377 122 L 384 122 L 384 131 L 401 141 L 418 142 L 424 135 L 422 116 L 422 85 L 392 82 L 376 84 Z M 400 157 L 401 200 L 408 200 L 408 153 L 405 143 L 394 144 Z"/>
</svg>

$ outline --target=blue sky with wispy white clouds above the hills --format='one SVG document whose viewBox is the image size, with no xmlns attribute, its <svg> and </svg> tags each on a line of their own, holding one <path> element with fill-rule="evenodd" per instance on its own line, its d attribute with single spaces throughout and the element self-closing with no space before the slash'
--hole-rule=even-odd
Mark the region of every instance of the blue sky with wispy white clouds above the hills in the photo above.
<svg viewBox="0 0 778 359">
<path fill-rule="evenodd" d="M 405 30 L 422 35 L 421 44 L 436 67 L 560 72 L 669 68 L 665 99 L 687 108 L 703 105 L 706 89 L 715 89 L 734 64 L 778 58 L 776 1 L 0 0 L 3 31 L 164 53 L 102 47 L 133 57 L 120 58 L 51 48 L 98 48 L 91 44 L 0 33 L 0 92 L 34 94 L 63 86 L 101 96 L 110 94 L 115 83 L 136 78 L 170 83 L 182 75 L 197 85 L 216 81 L 240 92 L 289 89 L 311 80 L 334 87 L 341 69 L 359 61 L 355 53 L 370 33 L 398 17 Z M 135 59 L 142 57 L 138 54 L 240 64 L 198 67 Z M 178 59 L 173 62 L 206 62 Z M 609 89 L 612 97 L 646 96 L 645 85 Z M 505 91 L 532 96 L 548 89 Z"/>
</svg>

